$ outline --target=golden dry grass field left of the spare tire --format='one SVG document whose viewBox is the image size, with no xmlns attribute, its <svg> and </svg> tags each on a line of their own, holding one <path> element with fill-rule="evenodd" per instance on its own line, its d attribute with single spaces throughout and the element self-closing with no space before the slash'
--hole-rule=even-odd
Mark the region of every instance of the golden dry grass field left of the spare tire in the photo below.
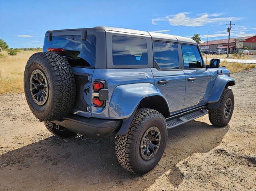
<svg viewBox="0 0 256 191">
<path fill-rule="evenodd" d="M 15 56 L 8 55 L 0 58 L 0 94 L 20 93 L 23 89 L 23 73 L 29 57 L 38 51 L 20 51 Z"/>
</svg>

